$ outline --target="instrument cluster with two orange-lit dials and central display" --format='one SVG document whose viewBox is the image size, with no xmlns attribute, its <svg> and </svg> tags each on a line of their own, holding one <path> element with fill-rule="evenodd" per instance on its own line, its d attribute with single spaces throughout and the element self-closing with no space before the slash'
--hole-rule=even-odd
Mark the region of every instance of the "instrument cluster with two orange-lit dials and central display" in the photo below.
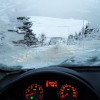
<svg viewBox="0 0 100 100">
<path fill-rule="evenodd" d="M 49 100 L 51 97 L 53 100 L 77 100 L 78 89 L 68 83 L 59 85 L 57 80 L 46 80 L 45 84 L 33 82 L 24 93 L 25 100 Z"/>
</svg>

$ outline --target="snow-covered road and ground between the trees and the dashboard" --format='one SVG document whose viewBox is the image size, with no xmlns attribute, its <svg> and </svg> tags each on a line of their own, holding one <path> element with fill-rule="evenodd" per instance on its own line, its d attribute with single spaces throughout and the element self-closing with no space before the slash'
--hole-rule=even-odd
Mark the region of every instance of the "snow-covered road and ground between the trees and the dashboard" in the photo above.
<svg viewBox="0 0 100 100">
<path fill-rule="evenodd" d="M 91 45 L 90 45 L 91 44 Z M 66 63 L 68 65 L 100 65 L 100 42 L 84 45 L 51 45 L 38 48 L 5 46 L 0 49 L 0 63 L 7 67 L 41 68 Z M 6 51 L 4 51 L 6 50 Z"/>
</svg>

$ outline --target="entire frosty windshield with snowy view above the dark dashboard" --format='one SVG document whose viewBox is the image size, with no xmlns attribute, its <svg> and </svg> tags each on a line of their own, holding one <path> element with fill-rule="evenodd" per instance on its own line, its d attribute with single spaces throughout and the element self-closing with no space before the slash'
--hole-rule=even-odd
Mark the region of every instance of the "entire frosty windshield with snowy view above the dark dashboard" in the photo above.
<svg viewBox="0 0 100 100">
<path fill-rule="evenodd" d="M 0 0 L 0 69 L 100 66 L 100 0 Z"/>
</svg>

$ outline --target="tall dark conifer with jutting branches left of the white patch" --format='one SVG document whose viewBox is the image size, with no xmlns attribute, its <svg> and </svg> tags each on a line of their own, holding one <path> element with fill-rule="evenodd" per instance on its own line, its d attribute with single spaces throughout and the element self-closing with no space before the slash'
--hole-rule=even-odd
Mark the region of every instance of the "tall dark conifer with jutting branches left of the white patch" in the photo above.
<svg viewBox="0 0 100 100">
<path fill-rule="evenodd" d="M 17 27 L 16 30 L 8 30 L 10 32 L 17 32 L 17 34 L 23 34 L 23 40 L 12 41 L 14 44 L 25 44 L 27 46 L 37 45 L 38 39 L 36 38 L 33 31 L 30 29 L 32 27 L 32 22 L 29 21 L 29 17 L 17 17 L 17 21 L 21 26 Z"/>
</svg>

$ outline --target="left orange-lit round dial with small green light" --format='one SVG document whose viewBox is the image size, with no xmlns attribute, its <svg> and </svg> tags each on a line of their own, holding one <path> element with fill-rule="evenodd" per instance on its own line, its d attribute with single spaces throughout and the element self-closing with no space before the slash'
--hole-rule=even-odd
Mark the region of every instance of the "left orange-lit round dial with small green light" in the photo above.
<svg viewBox="0 0 100 100">
<path fill-rule="evenodd" d="M 42 100 L 43 99 L 43 88 L 39 84 L 31 84 L 28 86 L 25 92 L 26 100 Z"/>
</svg>

